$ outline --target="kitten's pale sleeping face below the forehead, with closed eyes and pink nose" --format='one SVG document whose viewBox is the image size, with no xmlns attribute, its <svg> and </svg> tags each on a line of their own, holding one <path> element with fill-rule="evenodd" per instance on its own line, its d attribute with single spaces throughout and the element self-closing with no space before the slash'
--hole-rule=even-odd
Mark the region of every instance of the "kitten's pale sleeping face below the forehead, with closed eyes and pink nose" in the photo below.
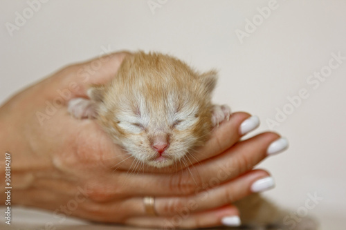
<svg viewBox="0 0 346 230">
<path fill-rule="evenodd" d="M 151 166 L 169 166 L 181 160 L 210 132 L 210 112 L 186 98 L 183 102 L 171 94 L 153 102 L 153 98 L 138 93 L 127 100 L 126 109 L 114 111 L 114 140 Z"/>
</svg>

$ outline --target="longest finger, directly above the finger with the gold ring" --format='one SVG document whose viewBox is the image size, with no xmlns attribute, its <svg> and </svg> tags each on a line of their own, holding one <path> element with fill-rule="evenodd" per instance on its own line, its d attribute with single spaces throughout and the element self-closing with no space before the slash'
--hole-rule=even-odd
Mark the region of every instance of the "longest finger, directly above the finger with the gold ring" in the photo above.
<svg viewBox="0 0 346 230">
<path fill-rule="evenodd" d="M 136 177 L 127 179 L 127 193 L 153 196 L 189 195 L 202 191 L 208 184 L 216 186 L 253 169 L 253 166 L 268 155 L 268 146 L 279 137 L 276 133 L 262 133 L 238 142 L 212 160 L 171 175 L 138 173 Z M 156 184 L 160 189 L 155 189 Z"/>
</svg>

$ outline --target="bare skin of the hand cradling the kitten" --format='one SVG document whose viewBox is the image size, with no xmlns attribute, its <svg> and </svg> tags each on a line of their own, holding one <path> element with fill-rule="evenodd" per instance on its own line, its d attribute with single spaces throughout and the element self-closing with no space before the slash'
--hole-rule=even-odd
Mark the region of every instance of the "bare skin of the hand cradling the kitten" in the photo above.
<svg viewBox="0 0 346 230">
<path fill-rule="evenodd" d="M 0 151 L 12 155 L 12 204 L 54 211 L 61 222 L 71 215 L 138 227 L 212 227 L 225 216 L 239 215 L 232 203 L 251 194 L 251 184 L 269 175 L 253 167 L 280 138 L 268 132 L 239 141 L 239 126 L 248 113 L 233 113 L 215 128 L 188 167 L 167 169 L 136 168 L 94 120 L 67 113 L 68 100 L 86 97 L 90 84 L 111 79 L 125 55 L 117 52 L 63 68 L 1 106 Z M 62 98 L 59 92 L 69 93 Z M 47 102 L 57 108 L 49 115 Z M 37 117 L 37 112 L 46 117 Z M 4 161 L 1 157 L 1 189 Z M 145 213 L 144 196 L 155 197 L 157 216 Z M 0 198 L 4 204 L 3 191 Z M 174 222 L 177 215 L 183 218 Z"/>
</svg>

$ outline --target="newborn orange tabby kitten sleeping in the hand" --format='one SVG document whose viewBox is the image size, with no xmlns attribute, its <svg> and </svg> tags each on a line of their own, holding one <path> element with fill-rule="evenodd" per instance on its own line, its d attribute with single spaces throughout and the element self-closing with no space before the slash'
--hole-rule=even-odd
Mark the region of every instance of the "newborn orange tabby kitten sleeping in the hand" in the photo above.
<svg viewBox="0 0 346 230">
<path fill-rule="evenodd" d="M 202 146 L 212 127 L 229 119 L 228 106 L 211 103 L 216 82 L 214 70 L 197 73 L 174 57 L 136 52 L 111 82 L 88 90 L 90 99 L 71 99 L 69 113 L 97 119 L 136 160 L 161 168 Z M 245 224 L 282 223 L 286 215 L 257 194 L 236 205 Z M 294 229 L 314 226 L 306 221 Z"/>
</svg>

